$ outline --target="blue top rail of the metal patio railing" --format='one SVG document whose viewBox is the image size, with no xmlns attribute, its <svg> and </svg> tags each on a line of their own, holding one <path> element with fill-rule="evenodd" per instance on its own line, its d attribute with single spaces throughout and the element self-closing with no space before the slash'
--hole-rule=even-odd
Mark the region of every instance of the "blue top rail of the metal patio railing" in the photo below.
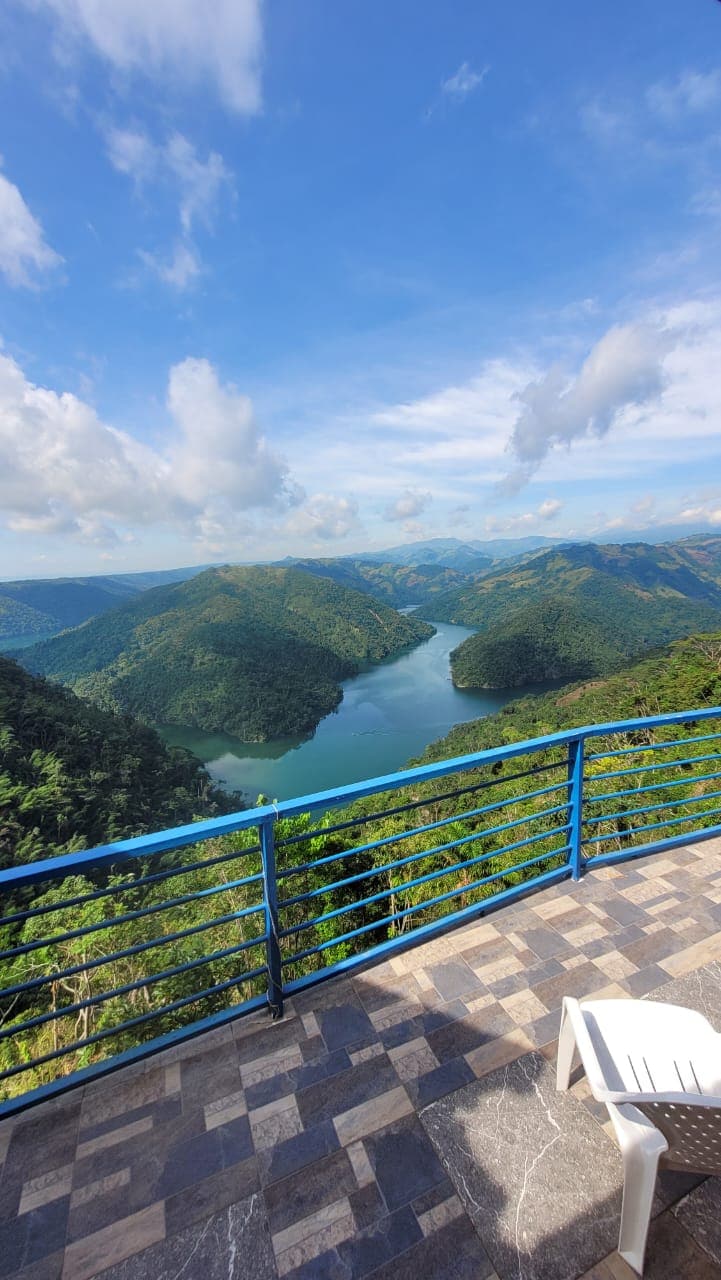
<svg viewBox="0 0 721 1280">
<path fill-rule="evenodd" d="M 225 814 L 222 818 L 186 823 L 182 827 L 169 827 L 165 831 L 152 832 L 149 836 L 136 836 L 131 840 L 119 840 L 110 845 L 99 845 L 95 849 L 61 854 L 36 863 L 27 863 L 22 867 L 10 867 L 0 872 L 0 891 L 4 888 L 19 888 L 23 884 L 31 884 L 40 879 L 82 876 L 85 870 L 97 867 L 111 865 L 131 858 L 147 858 L 170 849 L 182 849 L 186 845 L 196 845 L 213 837 L 247 831 L 265 822 L 273 822 L 275 818 L 293 818 L 318 809 L 333 809 L 338 805 L 351 804 L 353 800 L 362 800 L 379 791 L 397 791 L 416 782 L 428 782 L 451 773 L 462 773 L 466 769 L 497 764 L 502 760 L 515 759 L 519 755 L 530 755 L 533 751 L 547 750 L 553 746 L 567 746 L 570 742 L 587 737 L 603 737 L 608 733 L 626 733 L 640 728 L 662 728 L 667 724 L 683 724 L 688 721 L 713 718 L 721 718 L 721 707 L 702 707 L 695 710 L 670 712 L 662 716 L 645 716 L 636 719 L 611 721 L 604 724 L 584 724 L 579 728 L 560 730 L 557 733 L 547 733 L 542 737 L 526 739 L 521 742 L 508 742 L 503 746 L 488 748 L 483 751 L 458 755 L 448 760 L 434 760 L 432 764 L 420 764 L 398 773 L 365 778 L 362 782 L 351 782 L 328 791 L 297 796 L 293 800 L 280 800 L 278 804 L 259 805 L 255 809 Z M 649 744 L 649 750 L 652 746 L 653 744 Z M 238 850 L 238 858 L 242 858 L 245 852 L 245 850 Z"/>
</svg>

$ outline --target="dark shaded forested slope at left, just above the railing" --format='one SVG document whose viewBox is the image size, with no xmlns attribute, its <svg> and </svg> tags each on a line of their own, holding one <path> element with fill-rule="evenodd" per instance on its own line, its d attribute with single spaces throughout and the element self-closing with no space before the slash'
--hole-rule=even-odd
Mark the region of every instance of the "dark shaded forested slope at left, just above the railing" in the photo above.
<svg viewBox="0 0 721 1280">
<path fill-rule="evenodd" d="M 0 657 L 0 867 L 237 808 L 154 730 Z"/>
</svg>

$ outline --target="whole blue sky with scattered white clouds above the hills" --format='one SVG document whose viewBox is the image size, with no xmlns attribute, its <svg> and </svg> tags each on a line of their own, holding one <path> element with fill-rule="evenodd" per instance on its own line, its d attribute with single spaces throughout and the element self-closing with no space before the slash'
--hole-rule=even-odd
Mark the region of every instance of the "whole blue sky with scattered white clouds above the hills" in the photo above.
<svg viewBox="0 0 721 1280">
<path fill-rule="evenodd" d="M 0 576 L 721 531 L 717 0 L 10 0 Z"/>
</svg>

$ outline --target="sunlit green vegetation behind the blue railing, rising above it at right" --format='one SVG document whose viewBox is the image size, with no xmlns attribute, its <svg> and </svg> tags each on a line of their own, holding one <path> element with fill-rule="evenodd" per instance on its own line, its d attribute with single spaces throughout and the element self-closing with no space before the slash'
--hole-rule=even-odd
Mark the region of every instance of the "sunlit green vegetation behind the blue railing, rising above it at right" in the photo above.
<svg viewBox="0 0 721 1280">
<path fill-rule="evenodd" d="M 457 726 L 423 759 L 720 703 L 721 632 L 697 635 L 606 680 L 524 698 Z M 633 748 L 635 772 L 629 799 L 620 801 L 604 797 L 604 762 L 589 760 L 587 803 L 599 815 L 590 852 L 628 847 L 636 831 L 642 842 L 648 838 L 648 817 L 634 814 L 639 792 L 660 820 L 654 838 L 717 820 L 718 783 L 707 762 L 715 759 L 717 740 L 709 745 L 708 735 L 718 732 L 718 721 L 704 722 L 702 732 L 706 740 L 693 742 L 698 726 L 658 731 L 657 740 L 667 742 L 661 764 L 645 731 L 594 741 L 595 751 Z M 496 763 L 434 783 L 409 782 L 387 797 L 370 796 L 320 818 L 279 822 L 286 980 L 557 868 L 566 858 L 566 769 L 565 750 L 540 748 L 524 758 L 523 771 L 517 760 Z M 198 865 L 209 859 L 211 865 Z M 61 1061 L 70 1070 L 263 992 L 260 887 L 242 882 L 259 870 L 257 833 L 250 829 L 190 847 L 182 859 L 158 855 L 126 861 L 100 878 L 68 877 L 35 897 L 29 910 L 17 911 L 0 931 L 4 978 L 17 991 L 3 1010 L 0 1070 L 9 1074 L 0 1089 L 12 1093 L 51 1078 L 58 1050 L 68 1050 Z M 300 901 L 304 893 L 310 900 Z M 73 905 L 83 895 L 90 896 Z M 138 916 L 140 910 L 152 914 Z M 78 927 L 90 932 L 77 937 Z M 353 928 L 364 931 L 360 938 L 348 937 Z M 49 936 L 55 941 L 45 941 Z M 314 946 L 321 951 L 310 954 Z M 115 988 L 122 988 L 117 996 Z M 211 993 L 198 1006 L 196 993 L 205 988 Z M 67 1012 L 56 1019 L 58 1010 Z M 126 1020 L 132 1027 L 117 1032 Z M 19 1029 L 10 1038 L 13 1028 Z M 87 1036 L 96 1037 L 92 1046 L 76 1050 L 78 1037 Z M 29 1056 L 45 1055 L 47 1061 L 31 1073 L 12 1074 Z"/>
</svg>

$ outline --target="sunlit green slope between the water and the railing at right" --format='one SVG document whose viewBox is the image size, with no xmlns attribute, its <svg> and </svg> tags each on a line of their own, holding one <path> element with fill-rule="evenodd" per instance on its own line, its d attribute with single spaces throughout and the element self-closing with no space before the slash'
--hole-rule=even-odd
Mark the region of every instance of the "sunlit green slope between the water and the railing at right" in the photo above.
<svg viewBox="0 0 721 1280">
<path fill-rule="evenodd" d="M 494 716 L 456 724 L 420 759 L 443 760 L 580 724 L 702 707 L 721 707 L 721 631 L 677 640 L 606 680 L 520 698 Z"/>
</svg>

